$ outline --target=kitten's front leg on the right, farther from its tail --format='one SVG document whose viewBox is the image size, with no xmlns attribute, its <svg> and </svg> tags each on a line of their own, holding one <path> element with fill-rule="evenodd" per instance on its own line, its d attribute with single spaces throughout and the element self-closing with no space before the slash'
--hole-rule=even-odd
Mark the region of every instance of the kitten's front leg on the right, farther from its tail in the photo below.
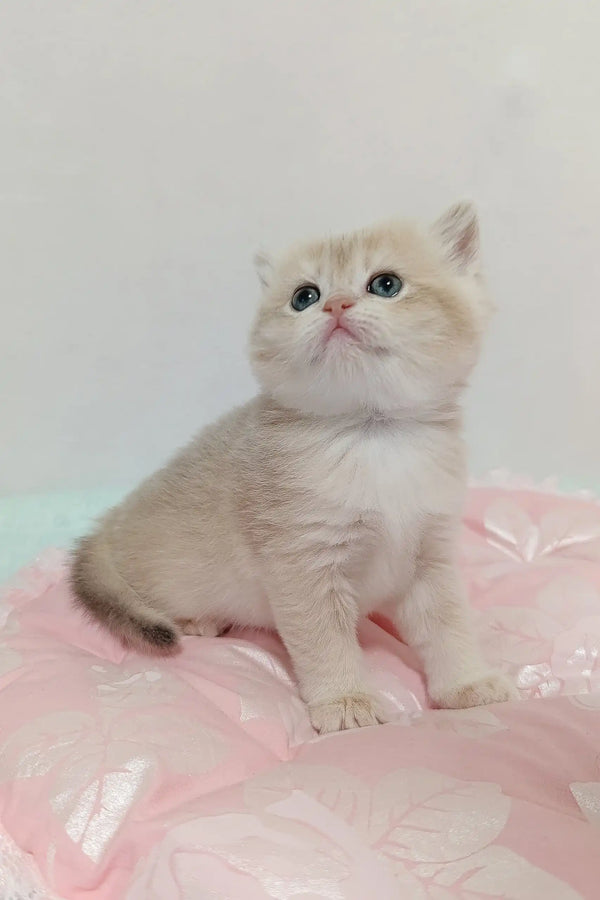
<svg viewBox="0 0 600 900">
<path fill-rule="evenodd" d="M 515 699 L 514 686 L 479 651 L 447 528 L 438 523 L 423 541 L 415 579 L 397 609 L 398 629 L 419 653 L 437 706 L 462 709 Z"/>
</svg>

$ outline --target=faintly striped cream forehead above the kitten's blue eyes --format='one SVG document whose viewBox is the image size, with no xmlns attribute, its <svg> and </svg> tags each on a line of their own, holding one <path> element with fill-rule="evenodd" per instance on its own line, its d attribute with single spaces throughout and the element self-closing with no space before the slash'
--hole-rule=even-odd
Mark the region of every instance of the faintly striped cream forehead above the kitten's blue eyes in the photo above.
<svg viewBox="0 0 600 900">
<path fill-rule="evenodd" d="M 402 274 L 415 267 L 428 268 L 427 250 L 416 229 L 393 223 L 299 245 L 282 261 L 280 271 L 286 280 L 336 285 L 385 269 Z"/>
</svg>

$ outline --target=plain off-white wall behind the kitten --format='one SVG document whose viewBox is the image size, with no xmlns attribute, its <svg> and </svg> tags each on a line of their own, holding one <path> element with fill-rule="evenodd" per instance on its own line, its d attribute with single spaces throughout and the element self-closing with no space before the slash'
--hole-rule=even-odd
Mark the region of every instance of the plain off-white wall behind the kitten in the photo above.
<svg viewBox="0 0 600 900">
<path fill-rule="evenodd" d="M 476 472 L 598 479 L 600 4 L 2 0 L 0 491 L 253 391 L 257 244 L 478 203 Z"/>
</svg>

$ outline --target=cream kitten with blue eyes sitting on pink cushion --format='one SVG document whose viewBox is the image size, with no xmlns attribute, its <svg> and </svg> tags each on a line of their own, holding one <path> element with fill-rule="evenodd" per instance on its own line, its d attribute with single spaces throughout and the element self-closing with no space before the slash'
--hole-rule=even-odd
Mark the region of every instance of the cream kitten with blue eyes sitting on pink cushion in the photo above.
<svg viewBox="0 0 600 900">
<path fill-rule="evenodd" d="M 476 215 L 392 223 L 257 260 L 261 393 L 205 428 L 75 553 L 85 610 L 143 651 L 275 627 L 315 728 L 387 720 L 357 621 L 395 601 L 434 703 L 507 700 L 456 564 L 458 406 L 490 314 Z M 198 652 L 201 651 L 199 646 Z"/>
</svg>

